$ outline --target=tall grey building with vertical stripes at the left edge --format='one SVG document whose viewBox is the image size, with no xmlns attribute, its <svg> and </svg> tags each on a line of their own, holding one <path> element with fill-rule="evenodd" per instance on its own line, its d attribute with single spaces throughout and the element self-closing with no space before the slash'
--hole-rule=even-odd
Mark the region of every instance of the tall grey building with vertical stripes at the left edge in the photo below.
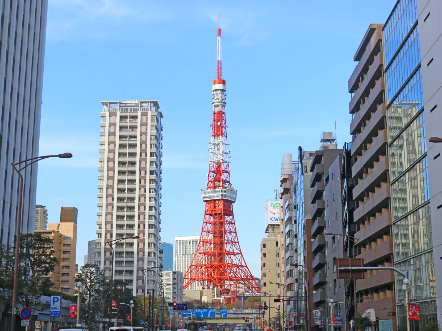
<svg viewBox="0 0 442 331">
<path fill-rule="evenodd" d="M 0 1 L 0 243 L 16 234 L 18 175 L 11 163 L 38 155 L 47 0 Z M 37 164 L 22 172 L 21 231 L 35 230 Z"/>
</svg>

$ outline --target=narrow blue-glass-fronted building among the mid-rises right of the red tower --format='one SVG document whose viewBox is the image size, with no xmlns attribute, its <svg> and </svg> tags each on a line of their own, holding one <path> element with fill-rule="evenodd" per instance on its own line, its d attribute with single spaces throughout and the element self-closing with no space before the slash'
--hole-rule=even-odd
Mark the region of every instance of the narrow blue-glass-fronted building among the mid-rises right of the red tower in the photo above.
<svg viewBox="0 0 442 331">
<path fill-rule="evenodd" d="M 306 302 L 313 302 L 314 299 L 317 299 L 317 297 L 321 295 L 320 293 L 316 293 L 313 296 L 313 287 L 308 286 L 312 281 L 312 273 L 310 270 L 312 268 L 313 260 L 313 254 L 311 253 L 311 228 L 313 223 L 310 219 L 311 211 L 313 210 L 310 196 L 313 190 L 310 187 L 310 179 L 312 176 L 310 165 L 314 154 L 314 151 L 304 151 L 302 147 L 299 146 L 299 166 L 296 174 L 296 238 L 298 241 L 297 263 L 299 264 L 299 267 L 293 270 L 295 277 L 295 306 L 293 309 L 298 316 L 298 325 L 304 327 L 306 322 L 309 326 L 313 325 L 310 318 L 311 312 L 308 311 Z M 305 268 L 302 266 L 305 266 Z"/>
</svg>

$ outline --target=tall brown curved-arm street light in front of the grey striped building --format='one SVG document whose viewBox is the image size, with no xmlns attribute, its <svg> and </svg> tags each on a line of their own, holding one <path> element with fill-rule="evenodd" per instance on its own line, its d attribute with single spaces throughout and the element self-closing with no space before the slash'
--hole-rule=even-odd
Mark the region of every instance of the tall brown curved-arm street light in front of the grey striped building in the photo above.
<svg viewBox="0 0 442 331">
<path fill-rule="evenodd" d="M 17 293 L 18 293 L 18 279 L 19 279 L 19 255 L 20 255 L 20 227 L 22 224 L 22 196 L 23 196 L 23 176 L 20 173 L 23 169 L 28 167 L 31 164 L 34 164 L 38 161 L 44 160 L 50 157 L 59 157 L 59 158 L 71 158 L 71 153 L 63 153 L 58 155 L 47 155 L 47 156 L 37 156 L 28 158 L 24 161 L 20 161 L 17 163 L 11 163 L 14 170 L 19 175 L 19 204 L 17 210 L 17 226 L 16 226 L 16 255 L 15 255 L 15 264 L 14 264 L 14 285 L 13 285 L 13 293 L 12 293 L 12 314 L 11 314 L 11 331 L 15 331 L 16 328 L 16 308 L 17 308 Z M 28 164 L 26 162 L 32 161 Z M 20 164 L 25 163 L 25 165 L 20 166 Z M 17 168 L 19 167 L 19 168 Z"/>
</svg>

